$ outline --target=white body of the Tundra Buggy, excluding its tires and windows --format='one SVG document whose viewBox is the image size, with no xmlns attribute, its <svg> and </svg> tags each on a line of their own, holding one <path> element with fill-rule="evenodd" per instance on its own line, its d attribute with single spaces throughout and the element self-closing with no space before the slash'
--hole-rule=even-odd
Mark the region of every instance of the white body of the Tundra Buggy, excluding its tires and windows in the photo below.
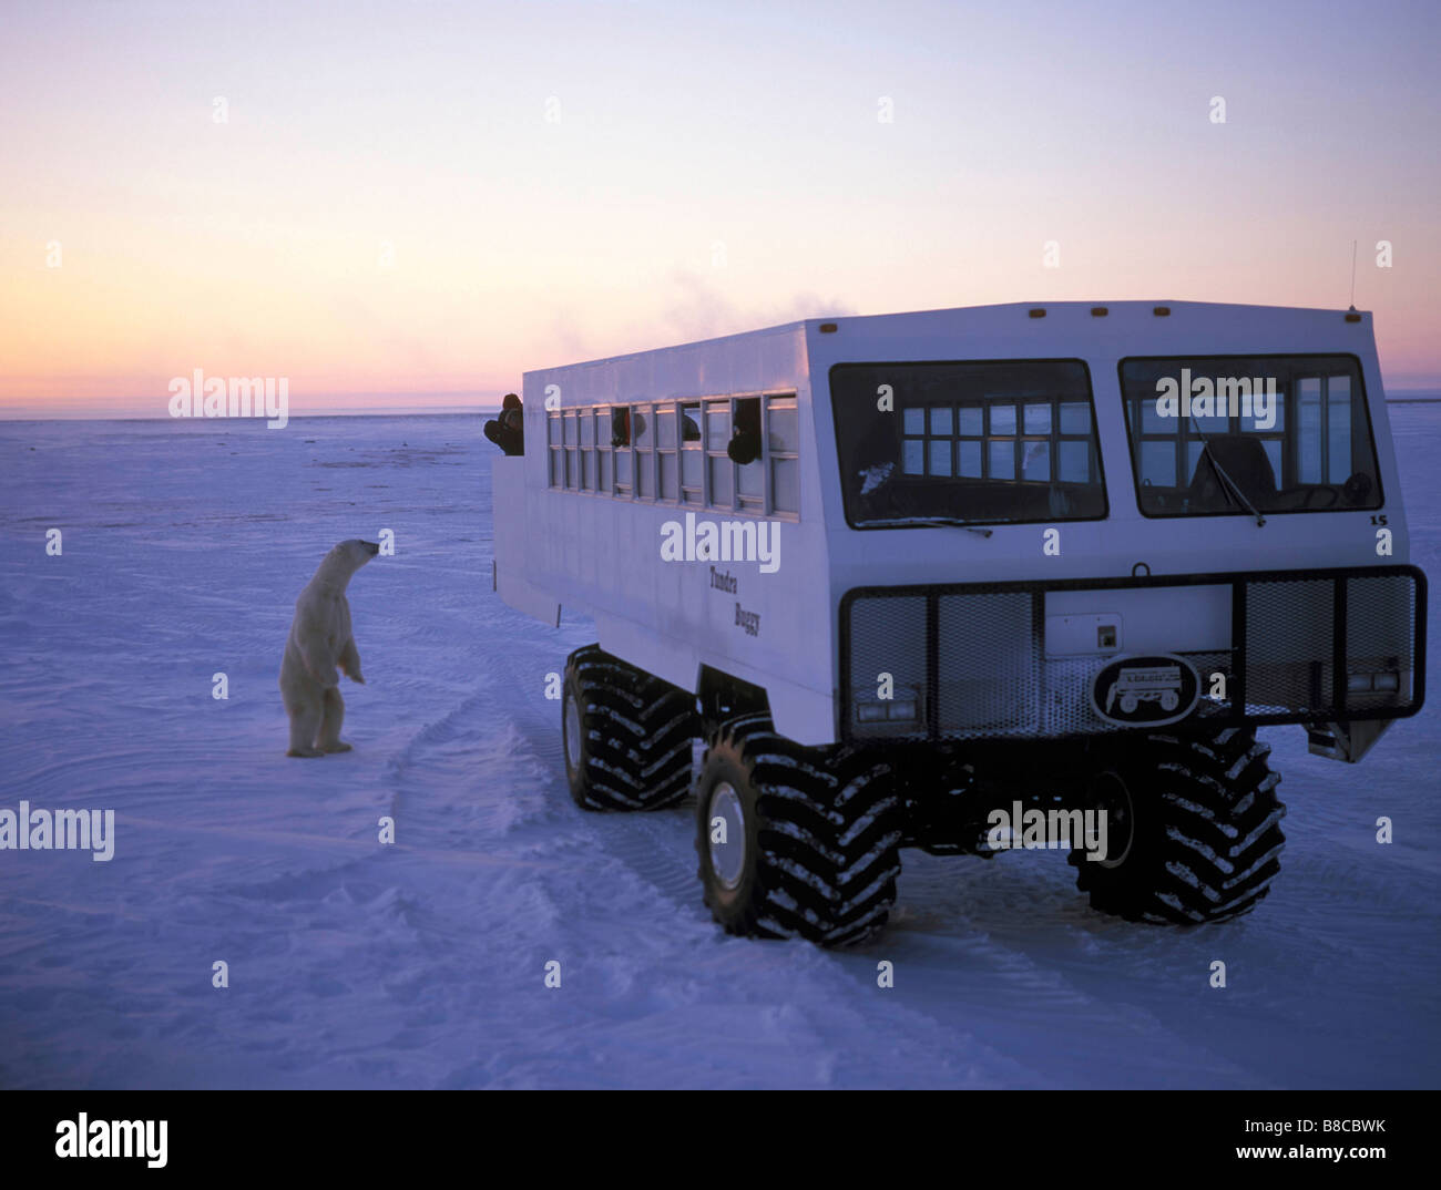
<svg viewBox="0 0 1441 1190">
<path fill-rule="evenodd" d="M 1376 470 L 1376 487 L 1359 501 L 1360 506 L 1282 510 L 1267 514 L 1264 524 L 1241 507 L 1228 507 L 1226 514 L 1190 517 L 1143 513 L 1123 402 L 1123 360 L 1311 356 L 1349 357 L 1356 364 L 1359 389 L 1349 392 L 1355 402 L 1350 409 L 1357 419 L 1369 418 Z M 983 517 L 976 520 L 977 529 L 970 530 L 914 523 L 853 527 L 842 490 L 831 369 L 879 366 L 873 370 L 882 375 L 888 364 L 971 360 L 1084 363 L 1098 442 L 1092 467 L 1104 477 L 1104 514 L 1027 523 L 997 523 Z M 1304 379 L 1294 382 L 1297 392 L 1306 385 Z M 1393 660 L 1399 657 L 1399 690 L 1392 697 L 1366 694 L 1349 709 L 1357 720 L 1370 719 L 1376 712 L 1375 717 L 1395 717 L 1414 713 L 1421 702 L 1417 651 L 1421 625 L 1419 617 L 1412 621 L 1412 609 L 1422 605 L 1424 579 L 1419 572 L 1404 568 L 1406 522 L 1382 392 L 1372 320 L 1366 313 L 1150 301 L 1105 307 L 1012 304 L 807 320 L 529 372 L 525 376 L 526 452 L 517 458 L 497 458 L 494 464 L 496 586 L 509 604 L 552 624 L 558 605 L 594 617 L 607 653 L 683 690 L 697 689 L 702 667 L 751 683 L 765 692 L 777 732 L 801 745 L 827 745 L 893 733 L 885 709 L 876 719 L 878 712 L 859 707 L 869 686 L 882 689 L 883 673 L 891 673 L 892 684 L 902 690 L 892 692 L 892 699 L 904 702 L 909 697 L 905 692 L 916 687 L 911 693 L 932 703 L 961 697 L 964 690 L 958 693 L 957 683 L 965 681 L 967 668 L 978 670 L 986 679 L 977 679 L 973 693 L 991 700 L 1003 696 L 997 683 L 1007 674 L 1030 674 L 1026 681 L 1035 689 L 1014 692 L 1017 699 L 1029 700 L 1027 706 L 1012 712 L 993 707 L 963 722 L 960 730 L 954 723 L 947 730 L 944 722 L 937 722 L 940 707 L 924 712 L 916 707 L 918 716 L 929 716 L 929 725 L 921 722 L 912 725 L 914 730 L 901 733 L 938 739 L 986 736 L 991 733 L 987 725 L 1001 736 L 1055 736 L 1114 728 L 1085 709 L 1081 687 L 1108 661 L 1123 656 L 1199 658 L 1203 684 L 1209 661 L 1223 656 L 1235 660 L 1248 643 L 1249 660 L 1257 666 L 1267 660 L 1265 650 L 1271 650 L 1275 656 L 1270 657 L 1270 664 L 1275 667 L 1331 667 L 1334 625 L 1316 622 L 1313 612 L 1319 609 L 1330 617 L 1340 607 L 1336 598 L 1342 596 L 1333 598 L 1333 581 L 1297 579 L 1290 586 L 1274 588 L 1281 595 L 1301 598 L 1301 605 L 1285 614 L 1255 594 L 1238 594 L 1261 588 L 1238 586 L 1235 576 L 1385 572 L 1395 581 L 1375 589 L 1352 588 L 1350 615 L 1356 617 L 1356 599 L 1365 598 L 1368 607 L 1375 605 L 1372 618 L 1389 625 L 1382 632 L 1386 640 L 1379 651 Z M 765 455 L 757 473 L 764 478 L 761 503 L 742 500 L 731 490 L 738 470 L 725 458 L 725 442 L 716 441 L 729 432 L 731 419 L 708 416 L 710 402 L 757 396 L 771 399 L 765 402 L 769 424 L 764 435 Z M 794 399 L 794 415 L 787 405 L 790 399 Z M 656 402 L 699 412 L 703 438 L 693 447 L 677 448 L 682 455 L 693 452 L 693 458 L 679 457 L 673 462 L 677 470 L 689 467 L 686 478 L 695 480 L 699 460 L 699 490 L 692 494 L 682 491 L 679 484 L 657 494 L 657 481 L 667 483 L 661 474 L 667 465 L 666 451 L 607 449 L 594 439 L 579 441 L 585 418 L 594 418 L 595 411 L 644 408 Z M 878 406 L 883 402 L 883 393 L 876 395 L 876 402 Z M 726 412 L 731 408 L 739 406 L 728 405 Z M 878 412 L 883 411 L 878 408 Z M 614 418 L 614 412 L 610 416 Z M 891 416 L 904 418 L 904 409 L 896 405 Z M 994 412 L 986 416 L 991 422 L 997 419 Z M 1014 416 L 1020 416 L 1019 409 Z M 572 428 L 578 439 L 574 444 L 565 439 Z M 1017 426 L 1016 434 L 1022 435 L 1023 429 Z M 960 445 L 947 445 L 944 439 L 924 439 L 922 435 L 916 441 L 934 448 L 938 457 L 950 451 L 950 465 L 955 468 L 963 465 L 957 461 L 963 449 L 970 451 L 967 458 L 974 455 L 968 439 L 957 438 Z M 1009 449 L 1006 439 L 996 435 L 976 442 L 997 458 Z M 1030 445 L 1046 457 L 1059 455 L 1059 439 L 1050 444 L 1036 438 Z M 1190 438 L 1187 448 L 1195 452 L 1196 445 Z M 1072 447 L 1078 457 L 1081 447 L 1075 442 Z M 1164 458 L 1167 451 L 1170 445 L 1163 439 L 1154 455 L 1144 457 Z M 633 470 L 650 468 L 648 491 L 643 488 L 637 496 L 633 481 L 630 490 L 617 493 L 618 468 L 625 465 L 623 455 L 628 455 Z M 563 470 L 561 474 L 555 470 L 566 465 L 575 468 L 569 487 Z M 1058 464 L 1052 460 L 1050 465 Z M 594 475 L 586 468 L 594 468 Z M 722 475 L 728 468 L 731 478 Z M 1185 478 L 1182 473 L 1176 484 L 1183 486 Z M 1337 486 L 1339 477 L 1333 487 Z M 1314 503 L 1333 498 L 1342 500 L 1339 494 L 1323 493 Z M 774 523 L 780 536 L 778 565 L 765 572 L 754 560 L 663 560 L 663 542 L 667 536 L 674 537 L 677 526 L 684 530 L 687 513 L 697 523 Z M 963 516 L 964 510 L 957 514 Z M 1167 576 L 1180 582 L 1159 582 Z M 990 661 L 981 656 L 961 657 L 953 650 L 945 660 L 954 671 L 937 674 L 937 658 L 927 660 L 922 654 L 948 648 L 944 640 L 940 644 L 888 643 L 892 628 L 899 637 L 928 631 L 927 612 L 919 605 L 905 615 L 898 612 L 891 627 L 857 619 L 852 625 L 856 638 L 847 640 L 846 617 L 859 615 L 855 605 L 847 608 L 846 604 L 847 596 L 856 598 L 855 592 L 940 588 L 944 595 L 947 588 L 973 583 L 1030 585 L 1016 588 L 1016 592 L 1029 592 L 1029 608 L 1019 595 L 1006 607 L 994 602 L 994 614 L 986 611 L 991 605 L 984 602 L 957 604 L 950 611 L 942 605 L 942 619 L 960 617 L 965 624 L 980 625 L 980 635 L 965 635 L 965 650 L 984 653 L 993 658 Z M 984 599 L 980 592 L 977 596 Z M 1242 605 L 1246 601 L 1251 622 L 1241 628 L 1235 619 L 1245 615 Z M 1267 619 L 1265 632 L 1258 625 L 1258 614 L 1275 618 L 1274 625 Z M 1290 634 L 1290 640 L 1274 638 L 1272 628 L 1281 637 Z M 1359 625 L 1353 625 L 1356 628 Z M 937 631 L 934 624 L 929 631 Z M 945 625 L 941 631 L 947 631 Z M 892 647 L 893 663 L 888 661 Z M 849 673 L 842 668 L 847 648 L 855 657 Z M 1311 656 L 1319 651 L 1324 656 Z M 866 656 L 855 656 L 857 653 Z M 1009 661 L 994 661 L 994 656 L 1006 653 L 1014 656 Z M 872 668 L 862 671 L 862 663 L 870 661 L 875 663 Z M 1216 668 L 1218 673 L 1225 670 L 1226 666 Z M 1223 676 L 1235 679 L 1231 673 Z M 1295 680 L 1306 677 L 1298 673 Z M 1294 697 L 1248 699 L 1244 713 L 1231 710 L 1226 716 L 1238 722 L 1334 719 L 1344 707 L 1334 706 L 1330 694 L 1337 684 L 1344 686 L 1344 680 L 1330 668 L 1323 680 L 1324 706 L 1294 704 L 1298 702 Z M 953 687 L 950 693 L 947 686 Z M 1277 689 L 1282 687 L 1285 683 L 1280 681 Z M 1056 699 L 1065 699 L 1066 706 L 1058 710 Z M 1203 699 L 1197 713 L 1215 713 L 1216 709 L 1215 699 Z M 866 720 L 870 728 L 865 726 L 863 716 L 872 716 Z"/>
</svg>

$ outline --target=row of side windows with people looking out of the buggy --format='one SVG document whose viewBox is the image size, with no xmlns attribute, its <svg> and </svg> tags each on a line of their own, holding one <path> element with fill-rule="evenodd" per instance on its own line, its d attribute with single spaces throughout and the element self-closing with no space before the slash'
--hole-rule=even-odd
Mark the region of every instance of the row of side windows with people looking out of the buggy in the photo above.
<svg viewBox="0 0 1441 1190">
<path fill-rule="evenodd" d="M 795 393 L 553 409 L 546 445 L 552 488 L 800 516 Z"/>
</svg>

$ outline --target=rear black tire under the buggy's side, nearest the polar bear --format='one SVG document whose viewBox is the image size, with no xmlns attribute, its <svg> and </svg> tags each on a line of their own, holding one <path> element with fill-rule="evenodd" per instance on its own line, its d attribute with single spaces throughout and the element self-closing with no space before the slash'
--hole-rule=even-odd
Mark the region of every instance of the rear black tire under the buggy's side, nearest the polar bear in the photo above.
<svg viewBox="0 0 1441 1190">
<path fill-rule="evenodd" d="M 574 719 L 572 719 L 574 716 Z M 598 645 L 566 658 L 561 739 L 582 810 L 661 810 L 690 788 L 696 700 Z"/>
</svg>

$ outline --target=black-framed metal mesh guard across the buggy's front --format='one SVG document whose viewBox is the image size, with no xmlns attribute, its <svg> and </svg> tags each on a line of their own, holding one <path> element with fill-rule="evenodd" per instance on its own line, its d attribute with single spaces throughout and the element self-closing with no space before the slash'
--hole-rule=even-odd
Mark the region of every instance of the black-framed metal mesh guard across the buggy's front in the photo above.
<svg viewBox="0 0 1441 1190">
<path fill-rule="evenodd" d="M 1205 579 L 1232 583 L 1244 624 L 1232 625 L 1241 638 L 1231 650 L 1177 654 L 1200 680 L 1190 720 L 1324 723 L 1396 717 L 1419 707 L 1419 571 Z M 1161 599 L 1167 589 L 1144 581 L 1117 585 L 1154 588 Z M 1088 589 L 1012 583 L 855 592 L 842 622 L 843 735 L 970 739 L 1123 730 L 1091 703 L 1097 676 L 1114 657 L 1046 657 L 1045 592 L 1063 588 Z M 892 679 L 889 707 L 878 699 L 883 674 Z"/>
</svg>

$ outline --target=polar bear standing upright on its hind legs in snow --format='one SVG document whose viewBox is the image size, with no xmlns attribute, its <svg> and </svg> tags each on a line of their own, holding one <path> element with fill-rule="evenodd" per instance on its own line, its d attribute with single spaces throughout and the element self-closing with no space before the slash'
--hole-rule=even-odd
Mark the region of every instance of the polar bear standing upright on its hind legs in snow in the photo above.
<svg viewBox="0 0 1441 1190">
<path fill-rule="evenodd" d="M 287 756 L 323 756 L 349 752 L 340 741 L 346 704 L 340 697 L 340 674 L 365 686 L 360 654 L 350 635 L 350 576 L 380 552 L 375 542 L 342 542 L 320 562 L 314 578 L 295 599 L 295 619 L 285 641 L 280 667 L 280 693 L 290 716 Z"/>
</svg>

